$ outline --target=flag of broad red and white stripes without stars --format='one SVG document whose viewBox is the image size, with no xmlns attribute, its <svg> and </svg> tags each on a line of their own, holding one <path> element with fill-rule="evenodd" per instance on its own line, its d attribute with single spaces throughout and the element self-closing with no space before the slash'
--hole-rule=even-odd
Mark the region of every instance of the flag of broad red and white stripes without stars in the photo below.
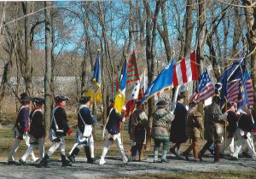
<svg viewBox="0 0 256 179">
<path fill-rule="evenodd" d="M 173 86 L 177 86 L 180 84 L 185 84 L 192 80 L 198 79 L 198 70 L 196 65 L 196 54 L 195 51 L 183 58 L 183 60 L 178 61 L 174 65 L 173 72 Z"/>
</svg>

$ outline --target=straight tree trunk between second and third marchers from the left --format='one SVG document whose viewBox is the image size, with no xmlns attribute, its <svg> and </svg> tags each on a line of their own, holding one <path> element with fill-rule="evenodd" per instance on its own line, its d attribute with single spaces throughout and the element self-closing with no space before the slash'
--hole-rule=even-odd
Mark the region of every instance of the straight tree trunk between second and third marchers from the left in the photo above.
<svg viewBox="0 0 256 179">
<path fill-rule="evenodd" d="M 44 2 L 45 14 L 45 74 L 44 74 L 44 122 L 46 136 L 49 132 L 49 124 L 51 118 L 51 43 L 50 43 L 50 6 L 51 2 Z"/>
</svg>

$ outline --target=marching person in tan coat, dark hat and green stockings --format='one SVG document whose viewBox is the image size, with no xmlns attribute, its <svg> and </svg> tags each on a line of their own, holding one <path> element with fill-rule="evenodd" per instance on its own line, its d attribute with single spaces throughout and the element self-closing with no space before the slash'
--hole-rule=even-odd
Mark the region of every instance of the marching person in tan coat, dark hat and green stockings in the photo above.
<svg viewBox="0 0 256 179">
<path fill-rule="evenodd" d="M 168 103 L 166 101 L 158 101 L 156 103 L 156 111 L 152 114 L 152 137 L 154 139 L 154 163 L 166 163 L 166 153 L 169 147 L 170 125 L 174 115 L 166 109 Z M 161 160 L 158 159 L 158 151 L 160 144 L 163 143 L 163 151 Z"/>
</svg>

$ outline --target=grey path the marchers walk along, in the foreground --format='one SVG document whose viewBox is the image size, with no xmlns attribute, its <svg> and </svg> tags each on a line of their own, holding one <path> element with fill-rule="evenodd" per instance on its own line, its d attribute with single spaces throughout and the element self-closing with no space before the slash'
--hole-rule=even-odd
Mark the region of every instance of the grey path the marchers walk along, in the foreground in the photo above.
<svg viewBox="0 0 256 179">
<path fill-rule="evenodd" d="M 191 157 L 192 158 L 192 157 Z M 25 166 L 7 165 L 0 162 L 0 178 L 102 178 L 138 176 L 146 173 L 168 173 L 183 171 L 255 171 L 256 162 L 252 159 L 240 159 L 231 161 L 222 159 L 219 164 L 213 164 L 210 154 L 203 162 L 184 161 L 174 156 L 168 156 L 169 164 L 153 163 L 153 157 L 149 156 L 146 162 L 130 162 L 123 164 L 119 157 L 108 157 L 105 165 L 87 164 L 85 159 L 77 159 L 72 167 L 61 167 L 60 160 L 51 160 L 49 168 L 37 168 L 35 165 Z"/>
</svg>

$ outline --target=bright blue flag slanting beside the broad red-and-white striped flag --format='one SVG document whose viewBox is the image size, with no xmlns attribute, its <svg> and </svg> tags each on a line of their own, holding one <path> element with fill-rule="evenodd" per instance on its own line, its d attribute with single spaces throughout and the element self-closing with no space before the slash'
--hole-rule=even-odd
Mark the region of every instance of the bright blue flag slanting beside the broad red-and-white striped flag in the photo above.
<svg viewBox="0 0 256 179">
<path fill-rule="evenodd" d="M 174 58 L 172 61 L 160 72 L 157 78 L 154 79 L 152 84 L 148 85 L 148 89 L 145 91 L 143 101 L 147 101 L 150 97 L 158 93 L 160 90 L 166 89 L 172 86 L 173 66 Z"/>
</svg>

